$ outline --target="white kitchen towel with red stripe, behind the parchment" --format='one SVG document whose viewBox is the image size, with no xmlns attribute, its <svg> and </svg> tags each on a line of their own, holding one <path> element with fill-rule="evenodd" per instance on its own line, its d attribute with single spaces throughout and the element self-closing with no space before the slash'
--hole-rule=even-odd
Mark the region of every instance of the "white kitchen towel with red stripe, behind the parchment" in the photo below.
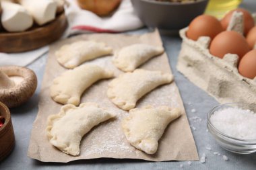
<svg viewBox="0 0 256 170">
<path fill-rule="evenodd" d="M 67 28 L 67 32 L 63 38 L 73 34 L 82 34 L 87 32 L 126 32 L 143 26 L 137 15 L 135 15 L 130 0 L 123 0 L 115 13 L 109 17 L 99 17 L 91 11 L 80 9 L 75 0 L 66 1 L 69 3 L 69 7 L 66 7 L 65 9 L 69 28 Z M 49 46 L 44 46 L 30 52 L 13 54 L 0 52 L 0 66 L 27 66 L 38 57 L 45 54 L 48 50 Z"/>
</svg>

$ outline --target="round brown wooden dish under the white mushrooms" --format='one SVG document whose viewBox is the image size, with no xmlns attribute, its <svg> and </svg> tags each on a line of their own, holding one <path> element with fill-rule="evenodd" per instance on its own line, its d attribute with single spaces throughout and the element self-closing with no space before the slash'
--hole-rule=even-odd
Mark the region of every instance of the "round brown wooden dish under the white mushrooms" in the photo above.
<svg viewBox="0 0 256 170">
<path fill-rule="evenodd" d="M 34 26 L 26 32 L 0 33 L 0 52 L 25 52 L 40 48 L 61 38 L 67 28 L 65 13 L 45 26 Z"/>
</svg>

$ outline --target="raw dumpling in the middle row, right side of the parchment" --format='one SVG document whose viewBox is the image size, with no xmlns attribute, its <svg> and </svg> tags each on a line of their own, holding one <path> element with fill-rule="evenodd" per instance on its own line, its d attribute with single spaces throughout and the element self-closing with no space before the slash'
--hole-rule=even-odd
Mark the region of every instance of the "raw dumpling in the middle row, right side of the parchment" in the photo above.
<svg viewBox="0 0 256 170">
<path fill-rule="evenodd" d="M 108 85 L 107 95 L 122 110 L 135 108 L 136 102 L 159 85 L 172 82 L 170 73 L 136 69 L 113 79 Z"/>
</svg>

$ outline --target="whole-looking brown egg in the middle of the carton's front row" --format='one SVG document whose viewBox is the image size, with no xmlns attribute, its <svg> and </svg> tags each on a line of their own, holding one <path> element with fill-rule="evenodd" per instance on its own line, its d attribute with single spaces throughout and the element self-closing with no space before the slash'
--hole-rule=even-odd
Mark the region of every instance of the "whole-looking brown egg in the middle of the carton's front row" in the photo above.
<svg viewBox="0 0 256 170">
<path fill-rule="evenodd" d="M 221 32 L 210 44 L 210 53 L 219 58 L 223 58 L 228 53 L 237 54 L 242 58 L 249 50 L 245 37 L 234 31 Z"/>
</svg>

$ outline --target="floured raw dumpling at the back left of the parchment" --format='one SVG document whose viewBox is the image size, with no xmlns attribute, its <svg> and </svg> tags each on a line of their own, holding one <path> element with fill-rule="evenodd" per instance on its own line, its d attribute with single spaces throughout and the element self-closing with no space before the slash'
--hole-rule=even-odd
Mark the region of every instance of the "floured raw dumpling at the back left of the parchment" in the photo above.
<svg viewBox="0 0 256 170">
<path fill-rule="evenodd" d="M 55 56 L 58 62 L 67 69 L 73 69 L 87 60 L 112 53 L 112 48 L 102 42 L 78 41 L 62 46 Z"/>
</svg>

